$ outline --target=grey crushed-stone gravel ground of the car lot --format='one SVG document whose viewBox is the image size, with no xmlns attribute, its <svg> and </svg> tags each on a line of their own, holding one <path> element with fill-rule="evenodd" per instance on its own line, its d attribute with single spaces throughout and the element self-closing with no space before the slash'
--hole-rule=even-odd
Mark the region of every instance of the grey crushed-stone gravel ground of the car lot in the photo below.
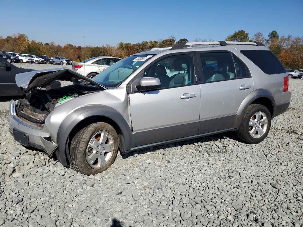
<svg viewBox="0 0 303 227">
<path fill-rule="evenodd" d="M 118 154 L 96 176 L 16 143 L 0 99 L 0 225 L 303 226 L 302 87 L 290 80 L 291 106 L 257 145 L 223 133 Z"/>
</svg>

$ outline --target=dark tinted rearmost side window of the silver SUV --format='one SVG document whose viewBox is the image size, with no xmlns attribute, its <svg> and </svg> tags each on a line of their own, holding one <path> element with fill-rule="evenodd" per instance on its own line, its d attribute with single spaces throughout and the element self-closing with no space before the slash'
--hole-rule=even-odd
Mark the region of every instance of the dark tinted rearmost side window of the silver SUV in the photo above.
<svg viewBox="0 0 303 227">
<path fill-rule="evenodd" d="M 284 67 L 271 51 L 242 50 L 240 52 L 266 74 L 285 73 Z"/>
</svg>

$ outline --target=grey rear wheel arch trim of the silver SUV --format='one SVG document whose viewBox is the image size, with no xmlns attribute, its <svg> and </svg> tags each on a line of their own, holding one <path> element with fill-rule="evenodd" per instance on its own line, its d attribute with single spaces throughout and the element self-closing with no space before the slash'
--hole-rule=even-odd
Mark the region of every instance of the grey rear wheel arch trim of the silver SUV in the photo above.
<svg viewBox="0 0 303 227">
<path fill-rule="evenodd" d="M 269 112 L 271 113 L 271 118 L 275 117 L 276 114 L 276 102 L 274 96 L 265 89 L 258 89 L 254 90 L 245 97 L 242 101 L 235 118 L 234 128 L 239 128 L 241 123 L 243 114 L 245 110 L 250 104 L 261 104 L 268 108 Z"/>
</svg>

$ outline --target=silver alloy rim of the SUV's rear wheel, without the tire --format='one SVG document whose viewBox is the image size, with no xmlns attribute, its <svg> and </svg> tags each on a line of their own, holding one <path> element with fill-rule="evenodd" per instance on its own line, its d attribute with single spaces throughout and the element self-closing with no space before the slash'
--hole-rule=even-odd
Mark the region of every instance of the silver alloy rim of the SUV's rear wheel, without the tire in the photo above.
<svg viewBox="0 0 303 227">
<path fill-rule="evenodd" d="M 251 137 L 259 138 L 266 132 L 268 119 L 265 113 L 259 111 L 249 120 L 248 131 Z"/>
</svg>

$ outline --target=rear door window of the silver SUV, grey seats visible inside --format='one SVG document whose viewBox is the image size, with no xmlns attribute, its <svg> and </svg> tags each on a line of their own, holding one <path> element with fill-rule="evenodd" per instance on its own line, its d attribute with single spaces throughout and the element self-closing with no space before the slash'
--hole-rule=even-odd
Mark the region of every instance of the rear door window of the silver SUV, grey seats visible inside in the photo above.
<svg viewBox="0 0 303 227">
<path fill-rule="evenodd" d="M 236 78 L 231 53 L 200 53 L 204 82 L 224 81 Z M 244 66 L 243 66 L 244 67 Z M 241 65 L 238 64 L 241 71 Z"/>
</svg>

